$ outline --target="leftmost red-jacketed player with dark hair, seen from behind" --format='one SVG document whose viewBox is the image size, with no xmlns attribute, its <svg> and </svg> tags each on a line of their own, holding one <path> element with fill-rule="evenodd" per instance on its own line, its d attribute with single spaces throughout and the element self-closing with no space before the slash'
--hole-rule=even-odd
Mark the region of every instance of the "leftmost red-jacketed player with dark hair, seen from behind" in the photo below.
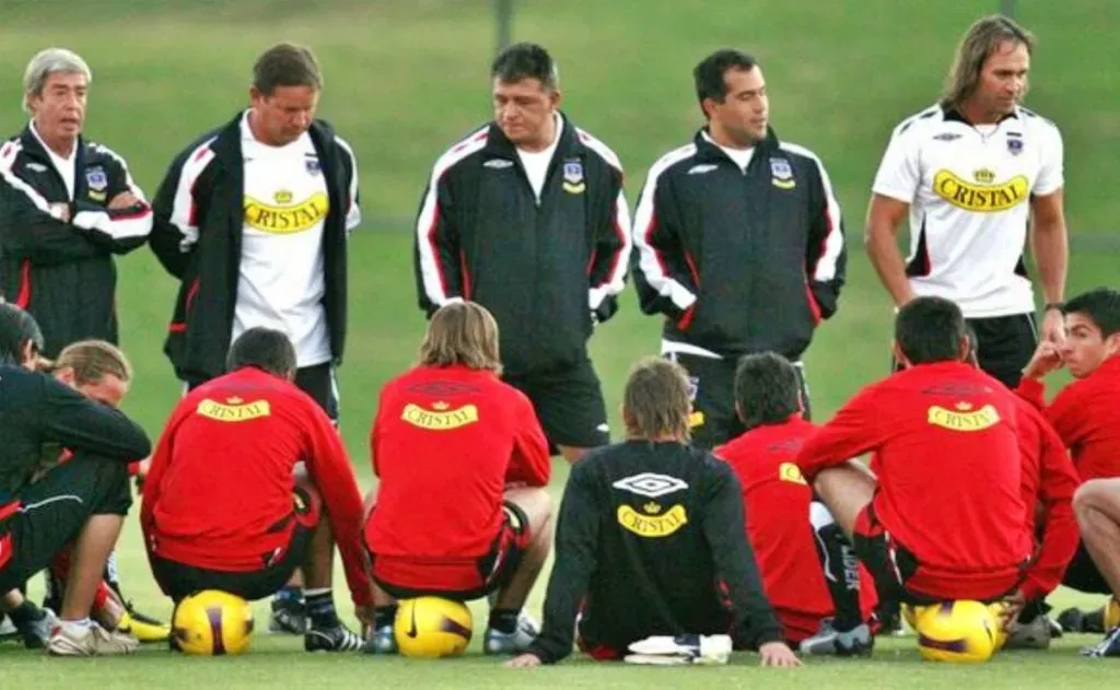
<svg viewBox="0 0 1120 690">
<path fill-rule="evenodd" d="M 152 457 L 140 521 L 156 581 L 176 603 L 200 589 L 255 600 L 302 568 L 304 649 L 356 651 L 330 591 L 337 541 L 355 615 L 372 616 L 362 494 L 342 439 L 292 383 L 283 333 L 250 328 L 227 366 L 179 402 Z"/>
</svg>

